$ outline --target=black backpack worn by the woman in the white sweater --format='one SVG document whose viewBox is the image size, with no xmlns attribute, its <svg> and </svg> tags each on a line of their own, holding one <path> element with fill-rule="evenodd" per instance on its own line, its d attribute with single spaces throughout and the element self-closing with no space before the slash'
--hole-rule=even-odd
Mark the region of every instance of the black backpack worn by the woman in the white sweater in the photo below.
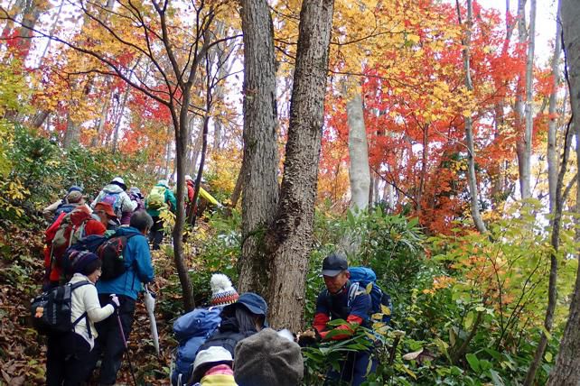
<svg viewBox="0 0 580 386">
<path fill-rule="evenodd" d="M 67 283 L 63 286 L 43 292 L 42 295 L 33 299 L 31 304 L 31 315 L 33 326 L 43 335 L 51 333 L 66 333 L 72 331 L 80 320 L 85 317 L 89 326 L 89 317 L 84 312 L 76 320 L 70 320 L 72 305 L 72 291 L 85 285 L 92 285 L 89 280 L 78 283 Z M 89 336 L 90 336 L 90 328 Z"/>
</svg>

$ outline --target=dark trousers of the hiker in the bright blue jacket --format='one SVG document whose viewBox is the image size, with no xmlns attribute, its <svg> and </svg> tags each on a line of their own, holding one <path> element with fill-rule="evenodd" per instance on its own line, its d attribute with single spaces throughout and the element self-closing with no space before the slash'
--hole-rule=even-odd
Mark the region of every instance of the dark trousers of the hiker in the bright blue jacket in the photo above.
<svg viewBox="0 0 580 386">
<path fill-rule="evenodd" d="M 133 317 L 135 315 L 135 300 L 123 295 L 117 295 L 120 306 L 117 311 L 107 319 L 97 323 L 98 337 L 95 340 L 95 348 L 91 352 L 91 368 L 94 368 L 102 355 L 98 381 L 100 384 L 112 385 L 117 381 L 117 372 L 121 368 L 121 360 L 125 353 L 125 341 L 131 333 Z M 110 301 L 109 294 L 99 294 L 98 300 L 101 307 Z M 118 317 L 121 319 L 125 339 L 119 330 Z"/>
</svg>

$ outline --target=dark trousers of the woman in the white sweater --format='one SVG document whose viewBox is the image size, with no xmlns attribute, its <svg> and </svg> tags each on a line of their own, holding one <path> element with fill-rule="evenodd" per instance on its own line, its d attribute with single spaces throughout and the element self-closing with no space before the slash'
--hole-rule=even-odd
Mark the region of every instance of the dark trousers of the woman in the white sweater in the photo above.
<svg viewBox="0 0 580 386">
<path fill-rule="evenodd" d="M 90 372 L 90 345 L 70 332 L 48 337 L 46 352 L 47 386 L 73 386 L 84 382 Z"/>
</svg>

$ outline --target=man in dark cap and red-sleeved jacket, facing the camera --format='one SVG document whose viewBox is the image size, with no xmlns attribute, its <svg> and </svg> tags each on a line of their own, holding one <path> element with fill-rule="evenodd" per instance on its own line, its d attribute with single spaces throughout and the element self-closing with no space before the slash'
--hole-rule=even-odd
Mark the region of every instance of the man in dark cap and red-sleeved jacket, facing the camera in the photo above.
<svg viewBox="0 0 580 386">
<path fill-rule="evenodd" d="M 331 253 L 323 260 L 323 279 L 326 289 L 316 299 L 316 311 L 313 326 L 325 339 L 328 334 L 326 324 L 332 319 L 343 319 L 351 325 L 369 326 L 371 299 L 364 288 L 357 289 L 350 297 L 351 283 L 349 264 L 346 257 L 341 253 Z M 358 285 L 356 286 L 358 287 Z M 356 289 L 355 287 L 355 289 Z M 351 299 L 350 299 L 351 298 Z M 332 340 L 346 339 L 353 332 L 348 325 L 336 327 L 344 330 L 345 334 L 332 336 Z M 341 370 L 331 370 L 326 374 L 326 383 L 346 381 L 354 386 L 360 385 L 366 380 L 370 359 L 370 351 L 357 351 L 347 354 L 346 361 L 341 363 Z M 375 361 L 370 365 L 370 372 L 376 367 Z"/>
</svg>

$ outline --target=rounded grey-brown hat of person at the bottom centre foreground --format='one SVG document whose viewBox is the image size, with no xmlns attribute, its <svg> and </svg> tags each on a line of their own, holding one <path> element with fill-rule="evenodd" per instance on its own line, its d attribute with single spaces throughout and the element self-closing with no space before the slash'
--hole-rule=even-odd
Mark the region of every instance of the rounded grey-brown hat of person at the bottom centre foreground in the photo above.
<svg viewBox="0 0 580 386">
<path fill-rule="evenodd" d="M 234 377 L 239 386 L 297 386 L 304 376 L 300 346 L 265 328 L 236 346 Z"/>
</svg>

